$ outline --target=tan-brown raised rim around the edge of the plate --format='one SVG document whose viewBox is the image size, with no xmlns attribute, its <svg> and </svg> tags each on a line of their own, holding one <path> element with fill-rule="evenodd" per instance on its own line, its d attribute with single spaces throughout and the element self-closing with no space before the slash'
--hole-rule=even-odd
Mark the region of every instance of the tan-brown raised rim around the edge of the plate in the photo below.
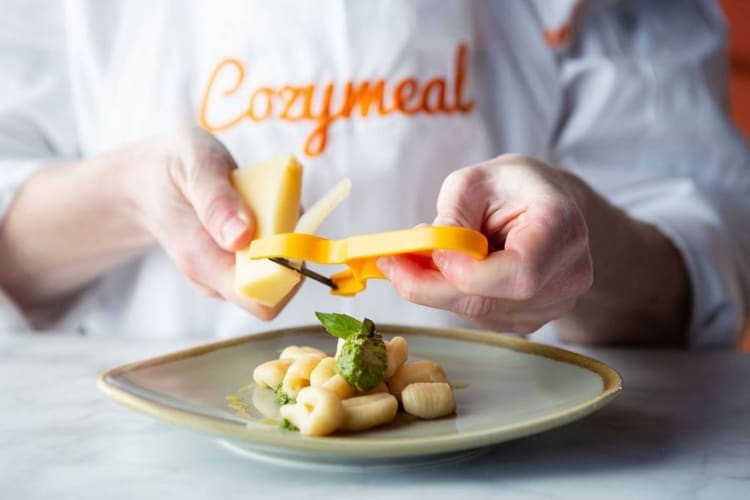
<svg viewBox="0 0 750 500">
<path fill-rule="evenodd" d="M 593 413 L 614 399 L 623 387 L 622 377 L 617 370 L 602 361 L 562 347 L 533 342 L 511 334 L 469 328 L 421 327 L 394 323 L 378 323 L 378 330 L 384 334 L 398 333 L 405 336 L 418 334 L 470 341 L 572 364 L 598 375 L 602 379 L 602 390 L 596 396 L 586 401 L 543 417 L 523 420 L 510 425 L 494 426 L 476 431 L 462 431 L 457 434 L 444 436 L 362 440 L 350 435 L 325 437 L 300 436 L 297 433 L 290 436 L 280 435 L 275 427 L 260 422 L 258 426 L 243 427 L 238 425 L 237 422 L 228 419 L 223 420 L 218 417 L 206 416 L 184 408 L 175 408 L 153 401 L 122 389 L 110 381 L 113 377 L 138 369 L 180 361 L 248 342 L 281 337 L 287 334 L 312 332 L 325 334 L 325 331 L 319 324 L 278 328 L 243 335 L 241 337 L 208 342 L 187 349 L 126 363 L 110 368 L 99 375 L 97 386 L 107 397 L 132 410 L 158 420 L 188 427 L 219 438 L 252 443 L 259 450 L 273 450 L 275 453 L 346 455 L 353 457 L 433 455 L 478 448 L 517 439 L 565 425 Z M 342 453 L 342 449 L 346 452 Z"/>
</svg>

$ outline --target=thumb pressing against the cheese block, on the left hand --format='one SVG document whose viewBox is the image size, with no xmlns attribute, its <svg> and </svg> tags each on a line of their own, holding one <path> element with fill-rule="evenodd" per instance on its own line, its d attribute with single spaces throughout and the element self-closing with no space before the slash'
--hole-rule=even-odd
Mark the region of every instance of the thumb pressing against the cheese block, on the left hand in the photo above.
<svg viewBox="0 0 750 500">
<path fill-rule="evenodd" d="M 246 247 L 253 237 L 254 221 L 250 208 L 229 181 L 231 169 L 214 166 L 202 170 L 200 181 L 193 183 L 188 194 L 198 219 L 224 250 Z"/>
</svg>

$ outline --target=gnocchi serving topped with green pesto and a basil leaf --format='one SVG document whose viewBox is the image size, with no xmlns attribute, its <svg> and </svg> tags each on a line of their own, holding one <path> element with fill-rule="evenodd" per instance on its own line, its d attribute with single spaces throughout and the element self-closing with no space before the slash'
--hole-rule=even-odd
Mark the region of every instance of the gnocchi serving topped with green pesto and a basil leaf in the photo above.
<svg viewBox="0 0 750 500">
<path fill-rule="evenodd" d="M 391 423 L 399 407 L 414 417 L 454 414 L 448 377 L 435 362 L 408 362 L 406 339 L 384 339 L 375 323 L 345 314 L 315 313 L 338 338 L 335 356 L 310 346 L 287 346 L 258 365 L 253 379 L 280 406 L 280 427 L 308 436 L 360 432 Z M 263 398 L 267 405 L 269 398 Z M 270 412 L 263 409 L 264 415 Z"/>
</svg>

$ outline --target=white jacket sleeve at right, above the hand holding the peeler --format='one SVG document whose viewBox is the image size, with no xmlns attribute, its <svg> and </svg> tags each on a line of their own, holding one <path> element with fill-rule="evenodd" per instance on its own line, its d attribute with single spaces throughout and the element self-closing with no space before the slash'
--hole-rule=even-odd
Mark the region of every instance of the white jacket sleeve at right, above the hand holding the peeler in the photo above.
<svg viewBox="0 0 750 500">
<path fill-rule="evenodd" d="M 557 54 L 551 156 L 679 250 L 691 346 L 735 345 L 749 315 L 750 150 L 727 117 L 719 7 L 619 2 L 584 11 L 576 33 Z"/>
</svg>

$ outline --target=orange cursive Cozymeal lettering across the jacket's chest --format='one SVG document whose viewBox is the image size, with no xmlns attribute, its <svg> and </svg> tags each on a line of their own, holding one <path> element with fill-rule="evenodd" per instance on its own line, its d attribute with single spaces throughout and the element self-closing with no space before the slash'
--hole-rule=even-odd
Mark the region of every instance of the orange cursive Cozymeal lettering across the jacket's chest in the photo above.
<svg viewBox="0 0 750 500">
<path fill-rule="evenodd" d="M 247 88 L 246 69 L 242 61 L 227 58 L 211 72 L 199 109 L 200 125 L 209 132 L 228 130 L 249 121 L 311 122 L 313 128 L 305 139 L 304 152 L 321 155 L 328 143 L 330 126 L 338 120 L 386 117 L 396 113 L 412 116 L 454 115 L 470 113 L 475 102 L 465 95 L 468 48 L 456 48 L 453 74 L 420 80 L 410 76 L 395 81 L 386 78 L 325 84 L 261 85 Z M 246 95 L 245 106 L 222 119 L 211 110 L 222 107 L 222 100 Z M 209 115 L 212 116 L 209 119 Z"/>
</svg>

